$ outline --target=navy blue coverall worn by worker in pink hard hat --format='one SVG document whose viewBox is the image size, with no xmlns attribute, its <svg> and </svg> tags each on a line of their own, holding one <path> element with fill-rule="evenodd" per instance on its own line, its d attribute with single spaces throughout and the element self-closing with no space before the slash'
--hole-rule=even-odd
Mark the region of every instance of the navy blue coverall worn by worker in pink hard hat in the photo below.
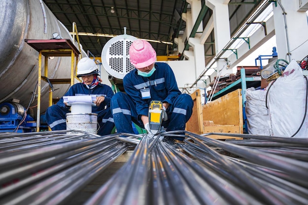
<svg viewBox="0 0 308 205">
<path fill-rule="evenodd" d="M 111 110 L 118 133 L 134 133 L 131 121 L 144 128 L 141 116 L 148 116 L 151 100 L 170 104 L 166 110 L 168 120 L 162 122 L 166 131 L 185 130 L 185 123 L 192 114 L 193 101 L 188 94 L 181 94 L 171 67 L 156 62 L 150 77 L 138 75 L 138 70 L 129 72 L 123 79 L 126 92 L 118 92 L 111 100 Z M 150 92 L 151 96 L 144 92 Z"/>
</svg>

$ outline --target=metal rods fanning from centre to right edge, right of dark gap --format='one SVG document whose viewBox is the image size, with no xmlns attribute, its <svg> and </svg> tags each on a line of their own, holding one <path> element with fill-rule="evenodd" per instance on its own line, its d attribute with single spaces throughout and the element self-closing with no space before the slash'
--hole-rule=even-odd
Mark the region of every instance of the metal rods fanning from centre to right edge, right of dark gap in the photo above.
<svg viewBox="0 0 308 205">
<path fill-rule="evenodd" d="M 163 135 L 177 133 L 183 131 Z M 86 205 L 308 204 L 308 139 L 225 134 L 257 140 L 224 142 L 207 137 L 217 133 L 185 133 L 190 140 L 174 145 L 143 137 L 132 158 Z"/>
</svg>

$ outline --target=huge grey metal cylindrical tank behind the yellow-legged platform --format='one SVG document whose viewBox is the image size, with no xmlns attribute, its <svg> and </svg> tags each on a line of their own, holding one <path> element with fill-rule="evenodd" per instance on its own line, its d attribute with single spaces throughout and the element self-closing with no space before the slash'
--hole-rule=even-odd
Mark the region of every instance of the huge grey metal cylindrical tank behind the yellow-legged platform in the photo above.
<svg viewBox="0 0 308 205">
<path fill-rule="evenodd" d="M 0 103 L 17 99 L 26 108 L 29 103 L 37 104 L 37 97 L 30 101 L 37 93 L 38 52 L 24 40 L 51 39 L 54 32 L 73 41 L 42 0 L 0 0 Z M 43 62 L 44 58 L 42 75 Z M 48 78 L 70 78 L 70 63 L 70 57 L 48 59 Z M 62 97 L 69 86 L 54 85 L 59 89 L 53 92 L 53 98 Z M 48 91 L 49 85 L 42 81 L 41 114 L 48 107 Z"/>
</svg>

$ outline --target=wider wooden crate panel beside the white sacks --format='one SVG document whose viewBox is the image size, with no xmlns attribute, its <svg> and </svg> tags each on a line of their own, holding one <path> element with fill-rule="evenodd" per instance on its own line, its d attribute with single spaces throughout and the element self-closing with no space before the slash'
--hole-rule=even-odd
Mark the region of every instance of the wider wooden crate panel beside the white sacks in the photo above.
<svg viewBox="0 0 308 205">
<path fill-rule="evenodd" d="M 202 107 L 205 121 L 204 133 L 243 133 L 242 89 L 232 91 Z M 235 139 L 234 137 L 213 135 L 215 139 Z M 240 139 L 240 138 L 239 138 Z"/>
</svg>

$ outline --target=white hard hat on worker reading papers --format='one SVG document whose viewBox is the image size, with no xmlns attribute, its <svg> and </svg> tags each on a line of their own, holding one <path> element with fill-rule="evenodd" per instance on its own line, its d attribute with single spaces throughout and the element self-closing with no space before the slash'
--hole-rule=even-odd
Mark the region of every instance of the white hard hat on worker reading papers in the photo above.
<svg viewBox="0 0 308 205">
<path fill-rule="evenodd" d="M 99 75 L 97 66 L 94 60 L 88 57 L 85 57 L 79 60 L 77 64 L 77 78 L 83 75 L 91 75 L 91 74 Z"/>
</svg>

